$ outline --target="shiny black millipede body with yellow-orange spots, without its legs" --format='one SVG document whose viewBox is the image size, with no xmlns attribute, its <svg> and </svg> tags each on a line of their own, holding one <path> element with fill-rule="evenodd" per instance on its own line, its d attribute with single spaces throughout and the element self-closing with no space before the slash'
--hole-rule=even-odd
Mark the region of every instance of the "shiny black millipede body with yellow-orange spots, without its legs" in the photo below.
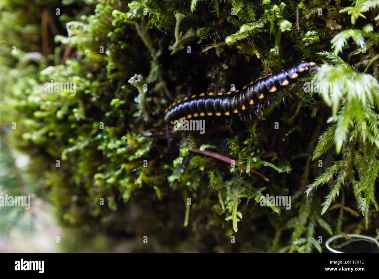
<svg viewBox="0 0 379 279">
<path fill-rule="evenodd" d="M 277 74 L 269 74 L 244 86 L 242 90 L 227 93 L 201 93 L 174 102 L 166 109 L 164 120 L 174 125 L 174 120 L 183 120 L 205 115 L 230 115 L 238 113 L 259 102 L 266 95 L 279 90 L 316 69 L 316 63 L 302 61 Z"/>
</svg>

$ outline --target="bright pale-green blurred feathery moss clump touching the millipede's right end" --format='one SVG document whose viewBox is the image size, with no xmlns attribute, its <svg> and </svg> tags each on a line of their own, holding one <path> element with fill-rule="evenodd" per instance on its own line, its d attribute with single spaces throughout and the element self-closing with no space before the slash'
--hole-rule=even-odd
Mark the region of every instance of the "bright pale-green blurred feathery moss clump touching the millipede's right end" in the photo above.
<svg viewBox="0 0 379 279">
<path fill-rule="evenodd" d="M 379 108 L 379 83 L 370 74 L 357 73 L 336 55 L 322 55 L 335 65 L 321 65 L 315 78 L 319 84 L 328 86 L 320 85 L 315 90 L 332 107 L 333 115 L 328 122 L 336 123 L 334 141 L 337 153 L 346 140 L 356 137 L 379 147 L 379 115 L 375 111 Z M 316 152 L 320 151 L 316 149 Z"/>
</svg>

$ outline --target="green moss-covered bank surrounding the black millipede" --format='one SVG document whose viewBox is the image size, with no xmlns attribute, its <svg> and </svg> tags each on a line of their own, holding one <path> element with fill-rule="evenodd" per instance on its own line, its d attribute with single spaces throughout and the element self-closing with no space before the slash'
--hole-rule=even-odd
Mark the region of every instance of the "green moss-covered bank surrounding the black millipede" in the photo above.
<svg viewBox="0 0 379 279">
<path fill-rule="evenodd" d="M 375 236 L 378 5 L 0 0 L 0 191 L 32 196 L 31 212 L 0 208 L 0 250 L 28 234 L 49 252 L 321 252 L 332 234 Z M 301 60 L 322 65 L 302 82 L 335 95 L 291 85 L 264 120 L 169 146 L 146 133 L 164 134 L 174 100 Z M 46 92 L 51 80 L 75 95 Z M 267 193 L 291 195 L 291 210 L 260 206 Z"/>
</svg>

